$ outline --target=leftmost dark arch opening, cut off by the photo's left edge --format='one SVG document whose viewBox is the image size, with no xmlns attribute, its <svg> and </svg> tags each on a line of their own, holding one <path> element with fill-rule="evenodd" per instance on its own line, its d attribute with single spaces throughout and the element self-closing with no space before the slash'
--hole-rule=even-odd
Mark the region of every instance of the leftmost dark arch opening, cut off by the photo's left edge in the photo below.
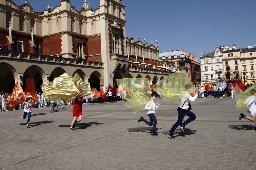
<svg viewBox="0 0 256 170">
<path fill-rule="evenodd" d="M 20 81 L 13 66 L 8 63 L 0 63 L 0 93 L 10 93 L 15 82 Z"/>
</svg>

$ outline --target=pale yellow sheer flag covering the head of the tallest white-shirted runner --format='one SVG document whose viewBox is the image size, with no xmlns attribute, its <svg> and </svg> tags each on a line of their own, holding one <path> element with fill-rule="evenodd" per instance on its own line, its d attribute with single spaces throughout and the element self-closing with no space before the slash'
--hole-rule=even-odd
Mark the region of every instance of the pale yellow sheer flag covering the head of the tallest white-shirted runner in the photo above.
<svg viewBox="0 0 256 170">
<path fill-rule="evenodd" d="M 185 89 L 190 87 L 189 91 Z M 185 70 L 177 71 L 153 85 L 155 91 L 168 104 L 174 104 L 190 92 L 196 91 Z"/>
</svg>

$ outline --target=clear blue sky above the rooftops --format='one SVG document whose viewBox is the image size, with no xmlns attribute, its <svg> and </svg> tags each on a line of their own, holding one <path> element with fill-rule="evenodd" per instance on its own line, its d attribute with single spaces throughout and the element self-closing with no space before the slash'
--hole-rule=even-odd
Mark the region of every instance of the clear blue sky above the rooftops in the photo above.
<svg viewBox="0 0 256 170">
<path fill-rule="evenodd" d="M 18 6 L 24 0 L 12 0 Z M 84 0 L 70 0 L 80 11 Z M 100 0 L 87 0 L 93 9 Z M 35 12 L 60 0 L 29 0 Z M 218 46 L 235 43 L 237 49 L 256 45 L 256 0 L 122 0 L 126 36 L 159 43 L 159 52 L 180 50 L 199 58 Z"/>
</svg>

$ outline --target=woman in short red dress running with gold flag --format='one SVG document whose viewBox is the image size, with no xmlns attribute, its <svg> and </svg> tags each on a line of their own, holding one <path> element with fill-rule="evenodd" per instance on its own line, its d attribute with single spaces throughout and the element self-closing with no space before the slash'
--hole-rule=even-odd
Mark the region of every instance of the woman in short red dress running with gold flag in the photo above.
<svg viewBox="0 0 256 170">
<path fill-rule="evenodd" d="M 73 107 L 73 121 L 69 130 L 73 131 L 75 128 L 75 124 L 82 120 L 82 93 L 78 91 L 77 95 L 75 95 L 74 107 Z"/>
</svg>

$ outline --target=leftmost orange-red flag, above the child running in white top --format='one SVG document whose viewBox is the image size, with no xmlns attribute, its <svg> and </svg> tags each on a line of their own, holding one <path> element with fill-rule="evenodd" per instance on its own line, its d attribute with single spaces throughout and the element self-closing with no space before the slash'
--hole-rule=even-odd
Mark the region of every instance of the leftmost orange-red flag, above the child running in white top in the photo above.
<svg viewBox="0 0 256 170">
<path fill-rule="evenodd" d="M 19 80 L 13 87 L 12 95 L 6 100 L 8 108 L 12 109 L 25 101 L 25 94 L 20 86 Z"/>
</svg>

